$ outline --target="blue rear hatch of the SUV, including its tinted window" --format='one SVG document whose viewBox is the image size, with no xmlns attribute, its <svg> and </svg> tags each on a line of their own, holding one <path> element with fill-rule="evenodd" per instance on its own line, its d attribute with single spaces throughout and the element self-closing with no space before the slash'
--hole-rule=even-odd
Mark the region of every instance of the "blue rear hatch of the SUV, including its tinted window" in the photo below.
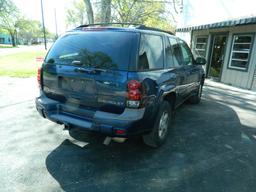
<svg viewBox="0 0 256 192">
<path fill-rule="evenodd" d="M 136 60 L 137 38 L 134 32 L 107 29 L 65 34 L 46 56 L 43 92 L 74 106 L 66 109 L 68 112 L 83 108 L 122 113 L 127 73 Z"/>
</svg>

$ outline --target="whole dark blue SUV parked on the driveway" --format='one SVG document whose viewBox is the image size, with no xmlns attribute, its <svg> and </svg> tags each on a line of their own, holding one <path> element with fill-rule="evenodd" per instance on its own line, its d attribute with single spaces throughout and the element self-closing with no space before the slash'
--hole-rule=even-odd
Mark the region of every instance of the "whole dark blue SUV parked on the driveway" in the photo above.
<svg viewBox="0 0 256 192">
<path fill-rule="evenodd" d="M 141 135 L 158 147 L 173 110 L 199 103 L 204 58 L 174 35 L 144 25 L 82 25 L 62 35 L 38 70 L 37 111 L 110 137 Z"/>
</svg>

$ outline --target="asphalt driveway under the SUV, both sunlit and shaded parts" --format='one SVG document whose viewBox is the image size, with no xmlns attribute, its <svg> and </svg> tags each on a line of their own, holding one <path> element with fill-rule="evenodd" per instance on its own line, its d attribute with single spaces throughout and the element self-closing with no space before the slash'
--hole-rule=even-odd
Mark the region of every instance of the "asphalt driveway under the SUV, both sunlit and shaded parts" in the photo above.
<svg viewBox="0 0 256 192">
<path fill-rule="evenodd" d="M 36 112 L 36 79 L 0 78 L 0 191 L 255 191 L 256 93 L 206 84 L 155 150 L 70 137 Z"/>
</svg>

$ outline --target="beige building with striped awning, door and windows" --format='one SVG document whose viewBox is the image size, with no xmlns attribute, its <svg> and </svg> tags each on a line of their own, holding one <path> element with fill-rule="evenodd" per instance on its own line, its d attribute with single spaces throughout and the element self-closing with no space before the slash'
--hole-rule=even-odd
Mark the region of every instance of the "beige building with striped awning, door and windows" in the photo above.
<svg viewBox="0 0 256 192">
<path fill-rule="evenodd" d="M 205 57 L 206 76 L 256 90 L 256 17 L 179 28 L 195 56 Z"/>
</svg>

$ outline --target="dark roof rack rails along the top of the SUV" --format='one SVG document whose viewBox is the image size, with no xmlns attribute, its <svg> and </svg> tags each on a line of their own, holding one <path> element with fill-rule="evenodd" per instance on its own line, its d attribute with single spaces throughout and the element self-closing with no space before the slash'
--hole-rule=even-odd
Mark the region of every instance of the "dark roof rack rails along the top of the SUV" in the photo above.
<svg viewBox="0 0 256 192">
<path fill-rule="evenodd" d="M 170 31 L 165 31 L 162 29 L 154 28 L 154 27 L 147 27 L 146 25 L 139 24 L 139 23 L 95 23 L 95 24 L 80 25 L 77 28 L 92 27 L 92 26 L 110 26 L 110 25 L 121 25 L 121 26 L 128 25 L 128 26 L 134 26 L 135 29 L 159 31 L 163 33 L 168 33 L 170 35 L 174 35 L 174 33 Z"/>
</svg>

